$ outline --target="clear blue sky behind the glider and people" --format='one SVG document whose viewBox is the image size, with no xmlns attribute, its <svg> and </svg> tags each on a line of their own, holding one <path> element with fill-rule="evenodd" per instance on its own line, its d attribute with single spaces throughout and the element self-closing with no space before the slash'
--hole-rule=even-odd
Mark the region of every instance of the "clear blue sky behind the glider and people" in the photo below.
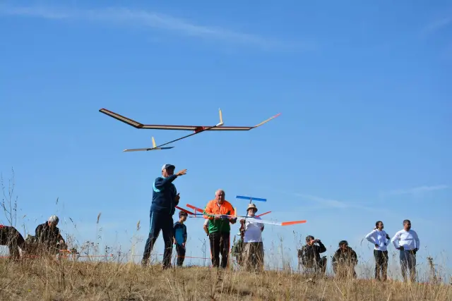
<svg viewBox="0 0 452 301">
<path fill-rule="evenodd" d="M 283 238 L 296 260 L 295 231 L 328 254 L 346 239 L 365 261 L 375 221 L 393 235 L 411 219 L 420 262 L 451 266 L 450 2 L 92 2 L 0 4 L 0 170 L 14 168 L 27 231 L 59 214 L 90 240 L 102 212 L 102 243 L 128 250 L 171 163 L 188 168 L 174 183 L 181 204 L 203 207 L 222 188 L 243 213 L 235 195 L 268 199 L 256 204 L 268 218 L 308 220 L 268 227 L 266 250 Z M 225 125 L 281 115 L 124 153 L 186 133 L 136 130 L 100 108 L 157 124 L 213 125 L 218 108 Z M 202 220 L 187 226 L 200 256 Z"/>
</svg>

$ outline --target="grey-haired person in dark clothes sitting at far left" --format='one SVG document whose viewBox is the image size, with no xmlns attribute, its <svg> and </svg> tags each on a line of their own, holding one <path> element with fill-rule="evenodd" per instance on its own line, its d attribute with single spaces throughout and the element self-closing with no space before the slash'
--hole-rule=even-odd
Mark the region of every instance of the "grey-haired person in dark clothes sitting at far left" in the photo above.
<svg viewBox="0 0 452 301">
<path fill-rule="evenodd" d="M 66 242 L 57 227 L 59 218 L 52 215 L 45 223 L 35 229 L 35 239 L 41 251 L 49 254 L 58 254 L 59 250 L 66 249 Z"/>
</svg>

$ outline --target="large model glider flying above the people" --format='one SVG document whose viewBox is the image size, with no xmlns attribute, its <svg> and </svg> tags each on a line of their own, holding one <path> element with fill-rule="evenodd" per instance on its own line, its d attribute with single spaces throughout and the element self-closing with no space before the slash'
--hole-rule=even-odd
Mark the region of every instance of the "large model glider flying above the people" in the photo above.
<svg viewBox="0 0 452 301">
<path fill-rule="evenodd" d="M 222 126 L 223 120 L 222 120 L 222 112 L 221 109 L 219 110 L 220 113 L 220 123 L 217 123 L 216 125 L 152 125 L 152 124 L 143 124 L 139 123 L 138 121 L 134 121 L 131 118 L 127 118 L 124 116 L 119 115 L 118 113 L 114 113 L 112 111 L 109 111 L 107 109 L 100 109 L 101 113 L 105 113 L 106 115 L 113 117 L 119 121 L 122 121 L 128 125 L 133 126 L 133 128 L 138 129 L 145 129 L 145 130 L 193 130 L 194 133 L 191 133 L 190 135 L 186 135 L 184 137 L 177 138 L 175 140 L 166 142 L 162 145 L 153 145 L 153 147 L 150 148 L 143 148 L 143 149 L 133 149 L 133 151 L 149 151 L 153 149 L 167 149 L 162 148 L 164 145 L 169 145 L 169 143 L 176 142 L 185 138 L 188 138 L 190 136 L 196 135 L 198 133 L 202 133 L 205 130 L 252 130 L 253 128 L 257 128 L 258 126 L 263 125 L 264 123 L 267 123 L 268 121 L 272 120 L 273 118 L 276 118 L 280 115 L 280 113 L 276 114 L 273 117 L 268 118 L 266 121 L 262 121 L 261 123 L 258 123 L 254 126 Z M 128 152 L 131 152 L 132 150 L 129 150 Z M 124 151 L 126 152 L 126 150 Z"/>
</svg>

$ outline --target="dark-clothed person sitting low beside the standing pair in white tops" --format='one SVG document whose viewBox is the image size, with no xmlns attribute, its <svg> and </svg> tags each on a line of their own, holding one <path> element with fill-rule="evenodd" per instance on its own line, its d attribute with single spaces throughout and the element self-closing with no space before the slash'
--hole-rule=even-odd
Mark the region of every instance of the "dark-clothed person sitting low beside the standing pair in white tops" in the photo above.
<svg viewBox="0 0 452 301">
<path fill-rule="evenodd" d="M 333 272 L 340 278 L 352 276 L 356 278 L 355 266 L 358 264 L 358 257 L 347 240 L 339 242 L 339 249 L 333 255 Z"/>
</svg>

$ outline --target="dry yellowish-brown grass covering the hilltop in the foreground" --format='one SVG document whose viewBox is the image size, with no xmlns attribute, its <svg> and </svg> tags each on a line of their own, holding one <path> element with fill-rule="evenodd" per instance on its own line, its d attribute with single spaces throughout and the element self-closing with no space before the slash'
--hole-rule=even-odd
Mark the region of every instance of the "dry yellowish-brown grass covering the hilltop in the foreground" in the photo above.
<svg viewBox="0 0 452 301">
<path fill-rule="evenodd" d="M 0 300 L 452 300 L 452 285 L 71 259 L 2 259 L 0 277 Z"/>
</svg>

